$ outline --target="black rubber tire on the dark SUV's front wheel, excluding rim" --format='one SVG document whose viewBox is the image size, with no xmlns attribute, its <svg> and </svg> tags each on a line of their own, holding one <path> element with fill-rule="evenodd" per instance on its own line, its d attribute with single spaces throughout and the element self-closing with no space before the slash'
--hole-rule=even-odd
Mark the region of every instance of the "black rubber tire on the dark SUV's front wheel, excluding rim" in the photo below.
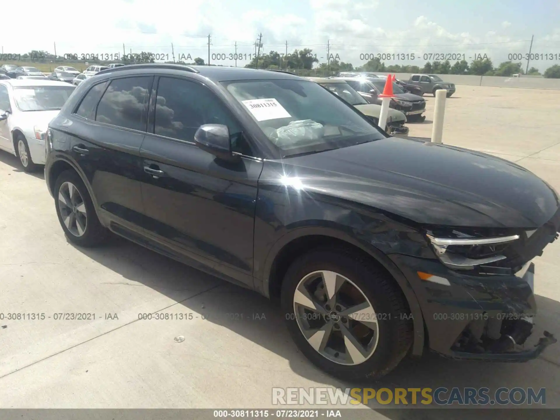
<svg viewBox="0 0 560 420">
<path fill-rule="evenodd" d="M 374 353 L 357 365 L 343 365 L 316 351 L 302 334 L 293 305 L 298 283 L 307 274 L 330 270 L 353 282 L 379 316 L 379 340 Z M 344 248 L 318 248 L 302 255 L 288 269 L 282 283 L 282 312 L 293 340 L 314 365 L 345 381 L 374 380 L 388 374 L 406 356 L 413 339 L 412 317 L 400 287 L 377 263 Z"/>
</svg>

